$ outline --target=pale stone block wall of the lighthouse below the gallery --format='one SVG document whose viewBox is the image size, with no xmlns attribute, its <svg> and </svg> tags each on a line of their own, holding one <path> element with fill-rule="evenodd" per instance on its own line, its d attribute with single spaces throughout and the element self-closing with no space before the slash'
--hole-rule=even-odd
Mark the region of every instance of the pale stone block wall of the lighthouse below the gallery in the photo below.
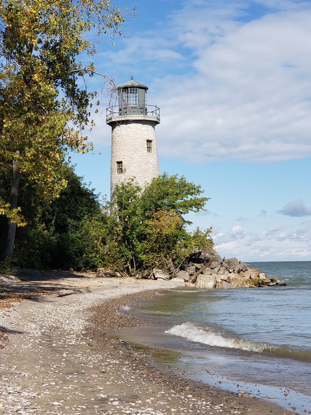
<svg viewBox="0 0 311 415">
<path fill-rule="evenodd" d="M 147 140 L 152 141 L 152 152 L 147 151 Z M 123 165 L 123 173 L 118 173 L 117 162 Z M 123 121 L 112 126 L 111 142 L 111 188 L 113 198 L 115 187 L 129 178 L 135 177 L 144 188 L 160 174 L 158 150 L 155 139 L 155 123 L 146 120 Z"/>
</svg>

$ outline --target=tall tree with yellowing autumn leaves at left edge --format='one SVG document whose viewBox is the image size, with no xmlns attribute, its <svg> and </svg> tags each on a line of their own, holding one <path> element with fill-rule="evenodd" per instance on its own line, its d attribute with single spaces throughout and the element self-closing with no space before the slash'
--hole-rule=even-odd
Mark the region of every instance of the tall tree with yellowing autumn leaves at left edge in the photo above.
<svg viewBox="0 0 311 415">
<path fill-rule="evenodd" d="M 79 80 L 97 72 L 78 58 L 96 53 L 87 34 L 96 41 L 120 34 L 124 18 L 109 0 L 0 3 L 0 169 L 12 171 L 10 200 L 0 198 L 0 215 L 9 220 L 2 258 L 12 254 L 16 225 L 25 224 L 17 207 L 20 175 L 38 198 L 52 200 L 66 187 L 61 171 L 68 152 L 93 149 L 85 131 L 94 125 L 97 92 Z"/>
</svg>

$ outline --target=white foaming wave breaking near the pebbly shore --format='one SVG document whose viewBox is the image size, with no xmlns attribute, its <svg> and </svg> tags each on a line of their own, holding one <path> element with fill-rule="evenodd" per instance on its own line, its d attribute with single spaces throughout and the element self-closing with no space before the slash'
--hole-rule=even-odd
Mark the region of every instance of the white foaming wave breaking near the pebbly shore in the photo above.
<svg viewBox="0 0 311 415">
<path fill-rule="evenodd" d="M 165 330 L 165 334 L 173 334 L 175 336 L 183 337 L 190 342 L 207 344 L 213 347 L 226 347 L 230 349 L 246 350 L 248 352 L 273 354 L 278 357 L 302 361 L 311 361 L 311 351 L 309 350 L 296 350 L 265 342 L 252 342 L 250 340 L 223 337 L 221 333 L 216 332 L 213 329 L 203 330 L 190 322 L 182 323 L 169 330 Z"/>
</svg>

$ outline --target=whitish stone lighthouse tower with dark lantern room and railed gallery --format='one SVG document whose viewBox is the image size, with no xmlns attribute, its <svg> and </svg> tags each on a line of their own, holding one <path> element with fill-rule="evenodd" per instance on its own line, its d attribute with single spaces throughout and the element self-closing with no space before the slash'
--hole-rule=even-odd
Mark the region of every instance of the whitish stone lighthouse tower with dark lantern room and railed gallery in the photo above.
<svg viewBox="0 0 311 415">
<path fill-rule="evenodd" d="M 155 126 L 160 109 L 147 105 L 148 87 L 131 80 L 117 88 L 119 103 L 107 108 L 112 127 L 110 200 L 118 184 L 135 177 L 141 188 L 160 174 Z"/>
</svg>

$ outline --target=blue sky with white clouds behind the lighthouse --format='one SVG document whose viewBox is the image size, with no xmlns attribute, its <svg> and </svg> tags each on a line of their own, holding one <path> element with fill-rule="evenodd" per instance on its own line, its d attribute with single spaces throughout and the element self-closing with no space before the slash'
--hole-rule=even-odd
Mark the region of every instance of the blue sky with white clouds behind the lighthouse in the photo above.
<svg viewBox="0 0 311 415">
<path fill-rule="evenodd" d="M 311 1 L 112 4 L 137 6 L 136 18 L 114 44 L 102 38 L 96 70 L 148 86 L 160 107 L 160 172 L 184 175 L 210 198 L 207 212 L 189 215 L 192 229 L 212 226 L 222 257 L 311 260 Z M 100 100 L 88 134 L 97 153 L 72 162 L 109 195 L 111 127 Z"/>
</svg>

